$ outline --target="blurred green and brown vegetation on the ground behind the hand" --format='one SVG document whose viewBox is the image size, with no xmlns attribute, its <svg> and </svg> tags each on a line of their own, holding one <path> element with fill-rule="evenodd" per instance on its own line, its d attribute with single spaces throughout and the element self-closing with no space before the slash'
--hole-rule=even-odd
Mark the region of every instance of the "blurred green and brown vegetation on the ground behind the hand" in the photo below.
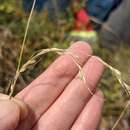
<svg viewBox="0 0 130 130">
<path fill-rule="evenodd" d="M 0 0 L 0 92 L 2 93 L 8 91 L 10 81 L 15 75 L 27 19 L 28 14 L 24 13 L 21 1 Z M 61 16 L 60 19 L 53 21 L 48 18 L 48 12 L 40 14 L 34 12 L 22 62 L 27 61 L 39 49 L 69 47 L 72 41 L 68 38 L 68 34 L 73 26 L 73 19 L 72 12 L 69 12 L 67 18 Z M 98 43 L 92 44 L 92 47 L 95 55 L 100 56 L 107 63 L 119 69 L 126 82 L 130 84 L 129 45 L 122 45 L 115 52 L 101 48 Z M 24 72 L 19 77 L 16 93 L 42 73 L 56 57 L 55 54 L 45 55 L 38 64 Z M 129 97 L 108 70 L 103 76 L 100 87 L 106 100 L 99 129 L 110 130 Z M 130 130 L 129 110 L 127 110 L 116 130 Z"/>
</svg>

